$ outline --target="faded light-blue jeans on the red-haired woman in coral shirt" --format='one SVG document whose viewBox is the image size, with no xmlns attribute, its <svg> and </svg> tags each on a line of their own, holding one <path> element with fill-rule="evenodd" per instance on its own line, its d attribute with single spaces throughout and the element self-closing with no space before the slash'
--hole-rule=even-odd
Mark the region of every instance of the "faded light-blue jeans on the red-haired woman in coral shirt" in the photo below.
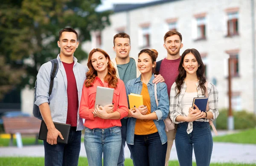
<svg viewBox="0 0 256 166">
<path fill-rule="evenodd" d="M 116 166 L 121 148 L 121 127 L 84 130 L 84 147 L 89 166 Z"/>
</svg>

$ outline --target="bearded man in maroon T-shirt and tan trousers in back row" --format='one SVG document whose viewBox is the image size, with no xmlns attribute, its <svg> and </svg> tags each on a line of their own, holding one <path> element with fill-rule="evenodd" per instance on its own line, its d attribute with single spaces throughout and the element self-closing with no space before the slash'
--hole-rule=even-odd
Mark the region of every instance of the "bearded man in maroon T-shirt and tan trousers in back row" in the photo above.
<svg viewBox="0 0 256 166">
<path fill-rule="evenodd" d="M 156 71 L 159 72 L 165 79 L 167 84 L 168 94 L 170 95 L 172 84 L 175 82 L 178 76 L 178 68 L 180 64 L 180 48 L 183 47 L 182 36 L 177 31 L 168 31 L 163 37 L 163 47 L 167 51 L 167 57 L 157 62 Z M 175 138 L 175 129 L 166 132 L 167 135 L 167 152 L 166 152 L 166 163 L 168 166 L 172 144 Z"/>
</svg>

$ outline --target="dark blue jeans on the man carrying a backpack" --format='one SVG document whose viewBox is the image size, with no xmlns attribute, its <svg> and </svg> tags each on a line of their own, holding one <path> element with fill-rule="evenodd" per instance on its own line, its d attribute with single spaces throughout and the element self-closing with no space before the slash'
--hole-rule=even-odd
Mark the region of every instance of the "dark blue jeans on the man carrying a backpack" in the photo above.
<svg viewBox="0 0 256 166">
<path fill-rule="evenodd" d="M 45 166 L 77 166 L 81 149 L 81 131 L 70 130 L 67 144 L 51 145 L 44 141 Z"/>
</svg>

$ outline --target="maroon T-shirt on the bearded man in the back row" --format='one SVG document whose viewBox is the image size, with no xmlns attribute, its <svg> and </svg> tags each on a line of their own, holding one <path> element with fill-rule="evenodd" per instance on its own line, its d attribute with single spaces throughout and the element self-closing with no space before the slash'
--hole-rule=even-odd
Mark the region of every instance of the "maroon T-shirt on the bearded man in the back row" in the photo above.
<svg viewBox="0 0 256 166">
<path fill-rule="evenodd" d="M 180 58 L 174 59 L 174 60 L 169 60 L 164 58 L 161 62 L 159 74 L 161 74 L 161 76 L 163 76 L 163 78 L 165 79 L 169 97 L 170 97 L 172 84 L 175 82 L 175 79 L 179 74 L 179 71 L 178 71 L 179 65 L 180 65 Z"/>
</svg>

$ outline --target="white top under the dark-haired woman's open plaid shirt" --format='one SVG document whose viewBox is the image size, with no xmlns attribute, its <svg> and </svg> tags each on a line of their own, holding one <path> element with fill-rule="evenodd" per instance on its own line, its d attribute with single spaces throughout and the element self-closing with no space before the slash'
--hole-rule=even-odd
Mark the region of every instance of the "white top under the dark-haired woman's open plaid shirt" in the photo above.
<svg viewBox="0 0 256 166">
<path fill-rule="evenodd" d="M 193 99 L 197 97 L 197 92 L 185 92 L 181 99 L 181 107 L 185 115 L 189 115 L 189 108 L 192 107 Z"/>
</svg>

